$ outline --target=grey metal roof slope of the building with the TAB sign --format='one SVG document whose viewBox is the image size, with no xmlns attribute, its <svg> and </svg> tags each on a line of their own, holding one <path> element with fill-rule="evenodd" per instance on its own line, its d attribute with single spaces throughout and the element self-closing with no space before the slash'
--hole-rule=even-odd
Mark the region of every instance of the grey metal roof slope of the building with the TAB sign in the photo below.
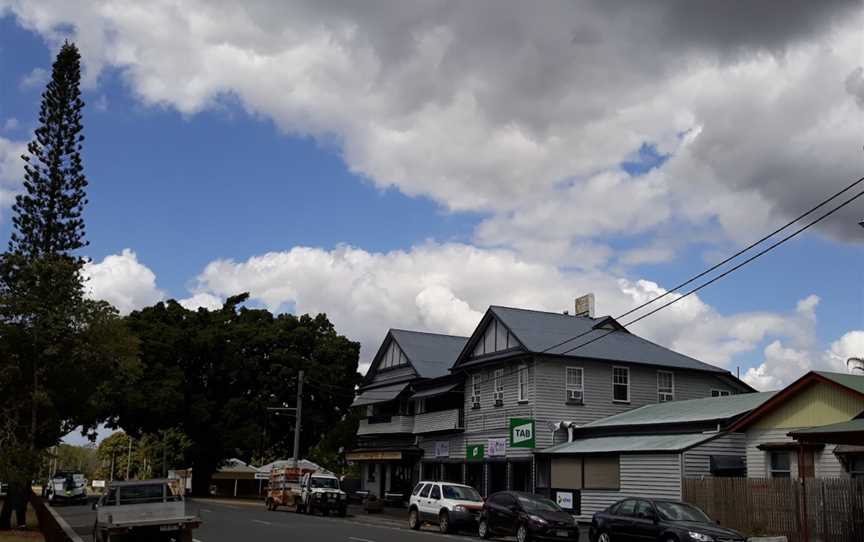
<svg viewBox="0 0 864 542">
<path fill-rule="evenodd" d="M 550 355 L 568 357 L 594 358 L 610 361 L 622 361 L 635 364 L 659 365 L 677 369 L 694 369 L 728 374 L 729 371 L 703 363 L 691 357 L 664 348 L 649 340 L 643 339 L 627 330 L 620 329 L 609 333 L 608 329 L 594 329 L 604 323 L 613 323 L 609 317 L 588 318 L 584 316 L 569 316 L 556 312 L 543 312 L 512 307 L 493 305 L 489 310 L 497 317 L 525 348 L 534 353 L 541 353 L 552 345 L 585 333 L 567 344 L 555 347 Z M 602 339 L 598 339 L 605 335 Z M 597 339 L 590 344 L 586 344 Z M 581 346 L 583 345 L 584 346 Z M 572 352 L 567 350 L 579 346 Z"/>
</svg>

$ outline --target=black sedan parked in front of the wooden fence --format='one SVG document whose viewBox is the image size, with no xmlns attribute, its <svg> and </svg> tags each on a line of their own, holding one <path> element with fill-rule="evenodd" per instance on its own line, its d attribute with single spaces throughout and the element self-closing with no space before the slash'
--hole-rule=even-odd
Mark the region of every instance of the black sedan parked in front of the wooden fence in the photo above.
<svg viewBox="0 0 864 542">
<path fill-rule="evenodd" d="M 624 499 L 594 514 L 591 542 L 744 542 L 699 508 L 663 499 Z"/>
</svg>

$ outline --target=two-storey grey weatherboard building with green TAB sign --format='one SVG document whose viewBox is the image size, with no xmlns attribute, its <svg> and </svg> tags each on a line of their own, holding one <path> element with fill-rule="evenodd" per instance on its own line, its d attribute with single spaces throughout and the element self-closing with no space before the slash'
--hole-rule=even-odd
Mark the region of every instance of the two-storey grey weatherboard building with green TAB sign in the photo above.
<svg viewBox="0 0 864 542">
<path fill-rule="evenodd" d="M 754 391 L 611 317 L 500 306 L 489 307 L 451 371 L 465 379 L 465 431 L 451 440 L 451 459 L 464 450 L 465 480 L 484 495 L 533 491 L 535 450 L 566 442 L 573 427 L 652 403 Z"/>
</svg>

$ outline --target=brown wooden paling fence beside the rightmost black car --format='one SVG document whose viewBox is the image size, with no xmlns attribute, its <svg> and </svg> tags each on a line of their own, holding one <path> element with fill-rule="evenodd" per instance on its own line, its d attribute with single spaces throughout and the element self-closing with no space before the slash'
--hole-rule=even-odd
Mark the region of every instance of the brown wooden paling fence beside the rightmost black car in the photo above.
<svg viewBox="0 0 864 542">
<path fill-rule="evenodd" d="M 746 535 L 864 540 L 864 480 L 707 478 L 684 480 L 682 490 L 685 501 Z"/>
</svg>

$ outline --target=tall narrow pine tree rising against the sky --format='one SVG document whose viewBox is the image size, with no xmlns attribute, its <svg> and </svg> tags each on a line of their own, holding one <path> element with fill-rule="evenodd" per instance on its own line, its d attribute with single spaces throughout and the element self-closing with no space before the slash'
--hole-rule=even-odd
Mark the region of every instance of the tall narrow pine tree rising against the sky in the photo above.
<svg viewBox="0 0 864 542">
<path fill-rule="evenodd" d="M 81 55 L 66 42 L 42 94 L 36 138 L 22 156 L 24 194 L 15 198 L 9 250 L 25 257 L 69 255 L 87 245 L 87 178 L 81 163 Z"/>
</svg>

